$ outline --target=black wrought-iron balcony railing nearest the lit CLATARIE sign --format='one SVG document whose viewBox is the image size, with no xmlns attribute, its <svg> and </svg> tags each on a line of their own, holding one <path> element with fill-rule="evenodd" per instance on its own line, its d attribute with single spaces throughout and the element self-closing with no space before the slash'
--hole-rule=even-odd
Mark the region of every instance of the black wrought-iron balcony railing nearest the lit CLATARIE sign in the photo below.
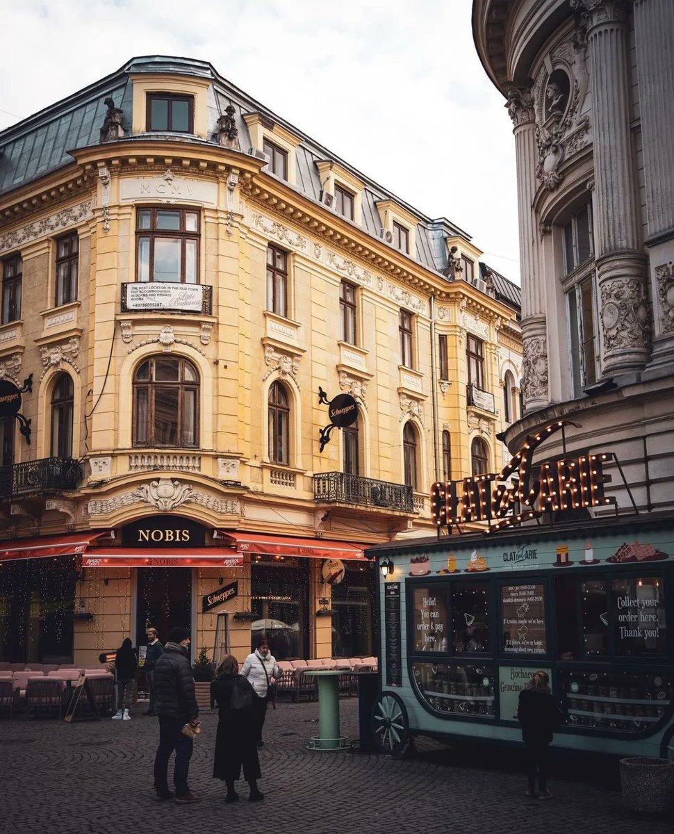
<svg viewBox="0 0 674 834">
<path fill-rule="evenodd" d="M 314 475 L 314 499 L 320 504 L 343 501 L 345 504 L 385 507 L 404 513 L 415 511 L 411 486 L 361 478 L 360 475 L 347 475 L 345 472 Z"/>
</svg>

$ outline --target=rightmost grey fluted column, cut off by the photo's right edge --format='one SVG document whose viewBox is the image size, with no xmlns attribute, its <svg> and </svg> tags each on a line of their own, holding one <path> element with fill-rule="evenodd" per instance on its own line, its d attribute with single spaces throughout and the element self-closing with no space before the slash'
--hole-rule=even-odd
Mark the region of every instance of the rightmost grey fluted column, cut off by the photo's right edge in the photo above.
<svg viewBox="0 0 674 834">
<path fill-rule="evenodd" d="M 674 3 L 635 0 L 636 71 L 655 338 L 653 364 L 674 360 Z"/>
</svg>

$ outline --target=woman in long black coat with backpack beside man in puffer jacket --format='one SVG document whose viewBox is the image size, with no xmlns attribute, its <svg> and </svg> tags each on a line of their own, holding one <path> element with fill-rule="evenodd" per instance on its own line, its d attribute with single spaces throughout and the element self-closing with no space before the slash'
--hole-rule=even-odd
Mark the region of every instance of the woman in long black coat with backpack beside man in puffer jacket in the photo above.
<svg viewBox="0 0 674 834">
<path fill-rule="evenodd" d="M 241 776 L 244 767 L 244 779 L 250 787 L 249 801 L 264 799 L 258 789 L 259 770 L 258 749 L 256 745 L 256 723 L 253 698 L 245 709 L 232 708 L 232 693 L 235 687 L 243 686 L 251 693 L 249 682 L 239 675 L 239 664 L 232 655 L 227 655 L 215 671 L 211 681 L 211 697 L 218 705 L 218 731 L 215 735 L 215 754 L 213 761 L 213 778 L 222 779 L 227 785 L 225 802 L 234 802 L 239 794 L 234 791 L 234 782 Z"/>
</svg>

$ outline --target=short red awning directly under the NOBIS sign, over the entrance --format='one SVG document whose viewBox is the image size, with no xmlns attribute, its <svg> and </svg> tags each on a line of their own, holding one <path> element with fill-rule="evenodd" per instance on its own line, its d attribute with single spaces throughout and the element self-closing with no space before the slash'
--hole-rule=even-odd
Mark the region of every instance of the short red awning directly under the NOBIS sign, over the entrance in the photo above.
<svg viewBox="0 0 674 834">
<path fill-rule="evenodd" d="M 236 568 L 244 557 L 229 547 L 91 547 L 83 568 Z"/>
</svg>

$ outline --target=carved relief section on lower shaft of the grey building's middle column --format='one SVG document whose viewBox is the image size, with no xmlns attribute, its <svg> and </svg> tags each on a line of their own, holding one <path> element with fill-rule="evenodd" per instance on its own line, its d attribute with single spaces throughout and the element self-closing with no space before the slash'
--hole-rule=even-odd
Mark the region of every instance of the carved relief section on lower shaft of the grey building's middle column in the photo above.
<svg viewBox="0 0 674 834">
<path fill-rule="evenodd" d="M 651 332 L 644 286 L 639 279 L 601 284 L 602 338 L 606 350 L 642 348 Z"/>
</svg>

